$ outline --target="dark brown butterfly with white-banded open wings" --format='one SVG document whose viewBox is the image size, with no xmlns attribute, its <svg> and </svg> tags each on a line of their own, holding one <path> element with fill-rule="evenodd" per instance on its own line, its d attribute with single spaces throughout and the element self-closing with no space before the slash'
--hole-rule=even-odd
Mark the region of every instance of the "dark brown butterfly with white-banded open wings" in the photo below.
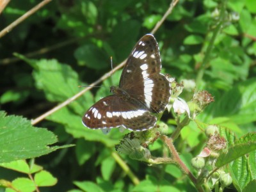
<svg viewBox="0 0 256 192">
<path fill-rule="evenodd" d="M 170 81 L 160 73 L 159 47 L 153 35 L 144 35 L 127 58 L 119 86 L 86 111 L 82 122 L 91 129 L 125 127 L 145 131 L 156 125 L 154 113 L 166 108 L 171 95 Z"/>
</svg>

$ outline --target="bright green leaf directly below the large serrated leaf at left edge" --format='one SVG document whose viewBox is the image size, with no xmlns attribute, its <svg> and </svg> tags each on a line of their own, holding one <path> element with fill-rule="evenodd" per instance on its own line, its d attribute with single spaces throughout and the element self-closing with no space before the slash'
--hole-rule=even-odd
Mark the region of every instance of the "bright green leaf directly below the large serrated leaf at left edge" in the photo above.
<svg viewBox="0 0 256 192">
<path fill-rule="evenodd" d="M 1 163 L 0 166 L 27 174 L 35 173 L 43 169 L 42 166 L 38 166 L 37 164 L 33 164 L 33 166 L 29 167 L 29 164 L 24 159 L 10 163 Z"/>
</svg>

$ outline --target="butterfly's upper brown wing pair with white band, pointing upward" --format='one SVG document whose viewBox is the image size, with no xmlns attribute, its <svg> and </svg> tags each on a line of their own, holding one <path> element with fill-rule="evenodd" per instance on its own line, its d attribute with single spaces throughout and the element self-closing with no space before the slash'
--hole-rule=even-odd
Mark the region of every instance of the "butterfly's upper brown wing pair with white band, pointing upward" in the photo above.
<svg viewBox="0 0 256 192">
<path fill-rule="evenodd" d="M 156 38 L 150 34 L 145 35 L 127 59 L 120 88 L 147 106 L 150 112 L 159 113 L 170 99 L 170 83 L 160 74 L 160 70 L 161 59 Z"/>
</svg>

